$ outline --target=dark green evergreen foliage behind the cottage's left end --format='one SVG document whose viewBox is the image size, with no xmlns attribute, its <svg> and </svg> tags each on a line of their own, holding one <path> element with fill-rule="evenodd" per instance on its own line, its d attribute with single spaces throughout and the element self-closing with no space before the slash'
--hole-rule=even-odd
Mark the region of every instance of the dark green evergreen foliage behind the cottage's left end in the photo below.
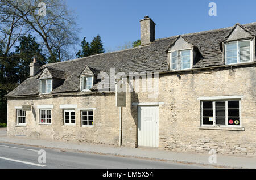
<svg viewBox="0 0 256 180">
<path fill-rule="evenodd" d="M 6 122 L 7 117 L 7 100 L 3 96 L 28 78 L 32 57 L 36 56 L 41 66 L 46 63 L 35 37 L 22 36 L 19 37 L 18 42 L 19 46 L 15 47 L 14 52 L 3 54 L 0 49 L 0 123 Z"/>
</svg>

